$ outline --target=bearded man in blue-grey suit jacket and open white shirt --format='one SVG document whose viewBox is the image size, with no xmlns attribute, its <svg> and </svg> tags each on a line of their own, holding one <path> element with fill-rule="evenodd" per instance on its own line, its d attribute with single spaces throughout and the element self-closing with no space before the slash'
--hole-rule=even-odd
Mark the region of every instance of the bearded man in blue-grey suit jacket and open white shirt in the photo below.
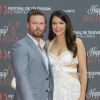
<svg viewBox="0 0 100 100">
<path fill-rule="evenodd" d="M 17 41 L 12 49 L 16 77 L 14 100 L 52 100 L 52 82 L 48 58 L 41 39 L 46 19 L 40 10 L 27 14 L 28 34 Z"/>
</svg>

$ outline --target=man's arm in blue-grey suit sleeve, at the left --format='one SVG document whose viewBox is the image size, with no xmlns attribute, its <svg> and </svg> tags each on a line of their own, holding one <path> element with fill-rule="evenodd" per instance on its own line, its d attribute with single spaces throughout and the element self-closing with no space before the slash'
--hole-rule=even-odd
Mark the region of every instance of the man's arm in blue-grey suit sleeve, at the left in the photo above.
<svg viewBox="0 0 100 100">
<path fill-rule="evenodd" d="M 27 47 L 20 43 L 15 44 L 12 49 L 12 61 L 20 97 L 22 100 L 34 100 L 28 76 Z"/>
</svg>

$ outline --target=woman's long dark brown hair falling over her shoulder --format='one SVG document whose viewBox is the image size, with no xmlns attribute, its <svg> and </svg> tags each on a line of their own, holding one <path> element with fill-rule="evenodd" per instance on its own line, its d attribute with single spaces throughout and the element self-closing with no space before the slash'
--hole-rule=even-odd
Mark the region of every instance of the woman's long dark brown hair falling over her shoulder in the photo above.
<svg viewBox="0 0 100 100">
<path fill-rule="evenodd" d="M 56 36 L 52 30 L 52 19 L 54 16 L 59 17 L 61 20 L 63 20 L 66 23 L 66 31 L 65 31 L 66 46 L 68 50 L 73 52 L 73 57 L 76 57 L 77 55 L 77 45 L 75 42 L 76 35 L 73 33 L 73 27 L 68 15 L 62 10 L 54 11 L 51 14 L 51 17 L 49 20 L 49 35 L 48 35 L 49 40 L 53 40 L 54 37 Z"/>
</svg>

